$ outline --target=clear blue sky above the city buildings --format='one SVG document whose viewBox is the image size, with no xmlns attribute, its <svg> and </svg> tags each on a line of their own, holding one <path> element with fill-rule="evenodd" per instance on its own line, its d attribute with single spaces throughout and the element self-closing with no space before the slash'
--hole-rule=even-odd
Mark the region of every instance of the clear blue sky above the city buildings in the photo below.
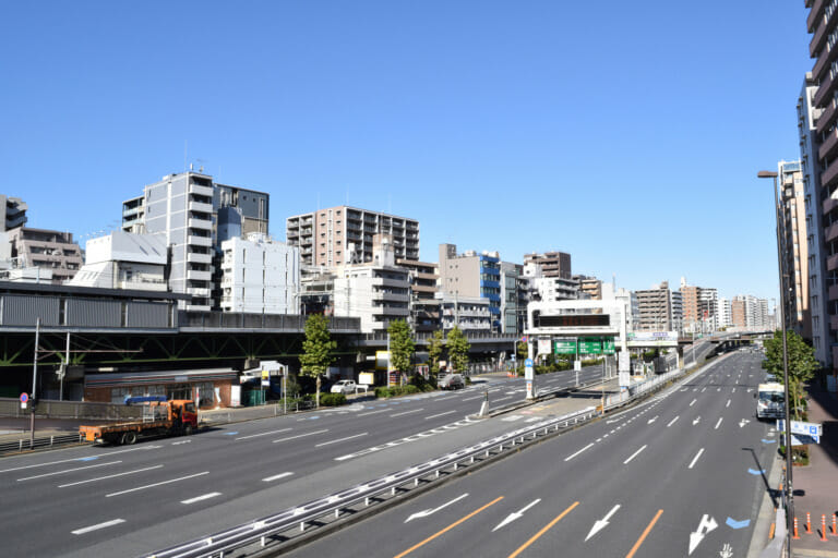
<svg viewBox="0 0 838 558">
<path fill-rule="evenodd" d="M 419 220 L 423 260 L 771 299 L 756 172 L 800 157 L 803 4 L 3 2 L 0 193 L 84 239 L 185 160 L 268 192 L 279 240 L 348 203 Z"/>
</svg>

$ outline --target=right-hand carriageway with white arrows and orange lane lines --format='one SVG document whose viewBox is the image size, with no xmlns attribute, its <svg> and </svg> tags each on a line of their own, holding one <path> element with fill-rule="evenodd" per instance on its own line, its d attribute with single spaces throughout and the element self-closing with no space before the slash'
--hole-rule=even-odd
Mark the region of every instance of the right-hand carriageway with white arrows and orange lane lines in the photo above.
<svg viewBox="0 0 838 558">
<path fill-rule="evenodd" d="M 745 557 L 778 438 L 754 417 L 759 361 L 716 361 L 290 556 Z"/>
</svg>

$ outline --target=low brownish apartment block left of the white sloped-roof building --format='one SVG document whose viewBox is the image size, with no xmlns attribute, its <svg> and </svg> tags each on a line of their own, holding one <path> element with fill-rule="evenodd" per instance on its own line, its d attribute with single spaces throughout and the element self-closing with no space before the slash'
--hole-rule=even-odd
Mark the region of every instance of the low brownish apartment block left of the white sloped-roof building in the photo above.
<svg viewBox="0 0 838 558">
<path fill-rule="evenodd" d="M 32 268 L 36 275 L 45 271 L 40 280 L 61 284 L 72 279 L 84 264 L 82 248 L 70 232 L 17 227 L 5 235 L 16 267 Z"/>
</svg>

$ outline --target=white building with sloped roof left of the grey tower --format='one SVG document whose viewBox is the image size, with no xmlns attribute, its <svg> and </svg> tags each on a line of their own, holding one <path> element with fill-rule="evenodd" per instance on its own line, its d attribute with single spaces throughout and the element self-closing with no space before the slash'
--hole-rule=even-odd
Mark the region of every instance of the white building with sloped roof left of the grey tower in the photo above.
<svg viewBox="0 0 838 558">
<path fill-rule="evenodd" d="M 85 244 L 84 265 L 67 284 L 166 291 L 163 235 L 113 231 Z"/>
</svg>

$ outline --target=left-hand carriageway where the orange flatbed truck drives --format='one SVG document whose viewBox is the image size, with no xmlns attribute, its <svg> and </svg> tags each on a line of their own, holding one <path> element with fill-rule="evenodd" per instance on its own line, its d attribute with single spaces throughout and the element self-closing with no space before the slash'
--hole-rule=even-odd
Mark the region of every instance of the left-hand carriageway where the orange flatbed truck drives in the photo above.
<svg viewBox="0 0 838 558">
<path fill-rule="evenodd" d="M 573 372 L 537 381 L 574 383 Z M 131 447 L 3 459 L 2 555 L 135 556 L 276 512 L 514 428 L 465 421 L 487 389 L 496 405 L 525 397 L 523 379 L 503 378 Z"/>
</svg>

